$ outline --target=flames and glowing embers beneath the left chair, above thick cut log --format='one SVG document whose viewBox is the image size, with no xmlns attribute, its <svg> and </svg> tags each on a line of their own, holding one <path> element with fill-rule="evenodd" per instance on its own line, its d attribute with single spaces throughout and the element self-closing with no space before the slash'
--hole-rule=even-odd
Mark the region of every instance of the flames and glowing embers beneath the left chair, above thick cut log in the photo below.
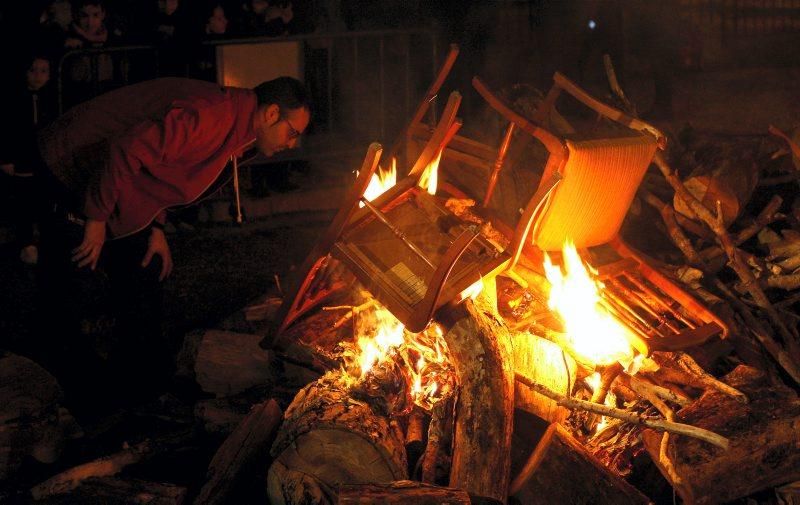
<svg viewBox="0 0 800 505">
<path fill-rule="evenodd" d="M 437 324 L 410 333 L 391 312 L 378 306 L 359 315 L 355 340 L 352 350 L 344 354 L 344 375 L 351 385 L 388 373 L 393 381 L 405 383 L 402 389 L 413 403 L 427 410 L 455 387 L 455 370 Z"/>
</svg>

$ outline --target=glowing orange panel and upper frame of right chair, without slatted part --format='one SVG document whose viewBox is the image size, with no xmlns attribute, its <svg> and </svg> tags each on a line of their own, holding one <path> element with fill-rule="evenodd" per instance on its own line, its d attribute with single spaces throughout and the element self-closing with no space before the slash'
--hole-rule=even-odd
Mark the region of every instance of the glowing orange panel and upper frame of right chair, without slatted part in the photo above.
<svg viewBox="0 0 800 505">
<path fill-rule="evenodd" d="M 512 243 L 517 250 L 526 240 L 545 251 L 560 250 L 566 240 L 576 247 L 609 242 L 619 232 L 656 149 L 663 148 L 666 141 L 653 126 L 600 102 L 563 75 L 556 73 L 553 80 L 535 117 L 528 119 L 495 96 L 480 79 L 473 79 L 475 89 L 492 108 L 539 140 L 549 152 L 540 189 L 553 183 L 554 172 L 561 176 L 544 205 L 537 203 L 534 210 L 529 204 L 523 213 Z M 556 100 L 562 91 L 612 120 L 622 133 L 575 140 L 551 131 L 544 125 L 556 113 Z M 541 192 L 534 197 L 537 195 Z"/>
</svg>

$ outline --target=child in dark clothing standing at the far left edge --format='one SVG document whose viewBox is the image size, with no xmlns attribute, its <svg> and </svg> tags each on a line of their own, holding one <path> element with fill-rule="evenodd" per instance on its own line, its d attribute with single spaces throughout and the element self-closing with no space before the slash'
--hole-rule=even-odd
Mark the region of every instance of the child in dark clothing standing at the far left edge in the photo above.
<svg viewBox="0 0 800 505">
<path fill-rule="evenodd" d="M 41 54 L 29 58 L 24 82 L 17 88 L 4 107 L 11 128 L 0 137 L 0 187 L 13 220 L 20 259 L 35 264 L 39 194 L 33 175 L 40 169 L 36 133 L 54 119 L 57 110 L 50 85 L 50 60 Z"/>
</svg>

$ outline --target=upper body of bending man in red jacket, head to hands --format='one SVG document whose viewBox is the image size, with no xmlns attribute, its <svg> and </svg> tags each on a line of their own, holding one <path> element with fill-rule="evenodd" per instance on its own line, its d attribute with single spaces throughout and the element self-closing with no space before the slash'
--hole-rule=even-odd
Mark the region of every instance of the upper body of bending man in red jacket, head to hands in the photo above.
<svg viewBox="0 0 800 505">
<path fill-rule="evenodd" d="M 39 144 L 56 186 L 63 186 L 56 191 L 66 190 L 56 199 L 78 197 L 80 207 L 65 210 L 85 217 L 74 261 L 94 269 L 107 231 L 126 237 L 155 221 L 146 258 L 162 256 L 163 279 L 171 267 L 158 226 L 165 209 L 196 200 L 253 144 L 266 156 L 294 147 L 309 119 L 305 89 L 290 77 L 252 90 L 156 79 L 69 110 Z"/>
</svg>

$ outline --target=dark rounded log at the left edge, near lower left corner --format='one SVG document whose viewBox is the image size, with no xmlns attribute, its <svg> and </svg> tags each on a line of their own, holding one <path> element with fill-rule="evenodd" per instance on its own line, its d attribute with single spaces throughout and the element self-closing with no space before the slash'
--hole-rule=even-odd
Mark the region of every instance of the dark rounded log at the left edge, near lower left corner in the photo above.
<svg viewBox="0 0 800 505">
<path fill-rule="evenodd" d="M 0 482 L 28 456 L 54 462 L 66 440 L 82 435 L 62 400 L 47 370 L 23 356 L 0 355 Z"/>
</svg>

